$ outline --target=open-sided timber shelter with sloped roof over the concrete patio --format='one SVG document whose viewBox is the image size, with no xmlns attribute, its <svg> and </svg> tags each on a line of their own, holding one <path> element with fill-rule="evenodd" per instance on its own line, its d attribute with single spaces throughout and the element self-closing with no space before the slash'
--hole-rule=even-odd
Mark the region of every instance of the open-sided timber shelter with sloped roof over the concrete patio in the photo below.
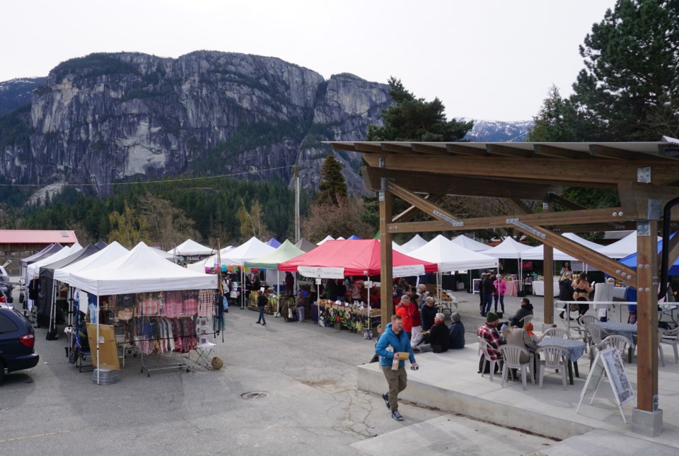
<svg viewBox="0 0 679 456">
<path fill-rule="evenodd" d="M 545 277 L 553 276 L 553 249 L 581 259 L 638 290 L 637 409 L 633 422 L 654 421 L 658 410 L 658 253 L 656 234 L 667 201 L 679 197 L 679 144 L 616 143 L 426 143 L 330 142 L 338 151 L 361 153 L 368 189 L 379 192 L 382 321 L 393 314 L 392 238 L 396 233 L 511 227 L 545 246 Z M 617 189 L 620 207 L 587 209 L 561 196 L 564 186 Z M 445 195 L 504 198 L 516 214 L 460 218 L 441 208 Z M 392 199 L 411 204 L 393 214 Z M 523 201 L 541 201 L 533 213 Z M 552 204 L 568 211 L 551 211 Z M 430 221 L 412 221 L 425 213 Z M 679 211 L 672 212 L 679 220 Z M 577 244 L 559 233 L 637 230 L 637 268 Z M 679 236 L 664 245 L 669 264 L 679 257 Z M 553 283 L 545 280 L 545 322 L 553 322 Z M 651 416 L 643 416 L 642 411 Z M 641 428 L 648 427 L 639 423 Z M 659 426 L 658 429 L 659 429 Z M 652 431 L 654 433 L 659 430 Z"/>
</svg>

